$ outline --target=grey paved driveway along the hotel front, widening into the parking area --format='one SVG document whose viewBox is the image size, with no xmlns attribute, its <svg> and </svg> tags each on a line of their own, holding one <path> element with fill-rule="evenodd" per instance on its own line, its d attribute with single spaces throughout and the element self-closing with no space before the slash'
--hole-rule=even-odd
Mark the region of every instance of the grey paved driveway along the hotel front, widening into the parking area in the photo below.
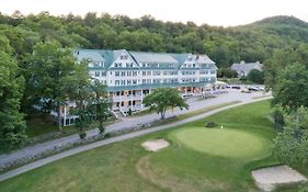
<svg viewBox="0 0 308 192">
<path fill-rule="evenodd" d="M 208 100 L 198 100 L 197 98 L 192 98 L 187 100 L 187 103 L 190 104 L 190 110 L 174 110 L 168 111 L 166 113 L 166 117 L 171 116 L 171 115 L 179 115 L 179 114 L 184 114 L 191 111 L 195 111 L 198 109 L 216 105 L 216 104 L 221 104 L 221 103 L 227 103 L 231 101 L 242 101 L 244 103 L 253 101 L 255 97 L 261 97 L 263 95 L 262 92 L 252 92 L 252 93 L 241 93 L 239 90 L 228 90 L 228 93 L 220 94 L 217 98 L 208 99 Z M 124 117 L 122 122 L 114 123 L 112 125 L 106 126 L 106 133 L 111 132 L 116 132 L 121 129 L 125 129 L 127 127 L 134 127 L 138 126 L 140 124 L 146 124 L 156 120 L 159 120 L 160 115 L 159 114 L 148 114 L 145 116 L 137 116 L 137 117 Z M 91 129 L 88 131 L 87 134 L 88 136 L 93 136 L 99 133 L 98 129 Z M 62 138 L 57 138 L 54 140 L 49 140 L 46 143 L 42 144 L 36 144 L 34 146 L 30 146 L 16 151 L 13 151 L 11 154 L 7 155 L 0 155 L 0 167 L 3 165 L 7 165 L 9 162 L 15 161 L 18 159 L 22 158 L 27 158 L 34 155 L 39 155 L 44 153 L 45 150 L 53 149 L 56 146 L 60 145 L 66 145 L 68 143 L 75 143 L 78 142 L 79 135 L 75 134 L 71 136 L 62 137 Z"/>
</svg>

